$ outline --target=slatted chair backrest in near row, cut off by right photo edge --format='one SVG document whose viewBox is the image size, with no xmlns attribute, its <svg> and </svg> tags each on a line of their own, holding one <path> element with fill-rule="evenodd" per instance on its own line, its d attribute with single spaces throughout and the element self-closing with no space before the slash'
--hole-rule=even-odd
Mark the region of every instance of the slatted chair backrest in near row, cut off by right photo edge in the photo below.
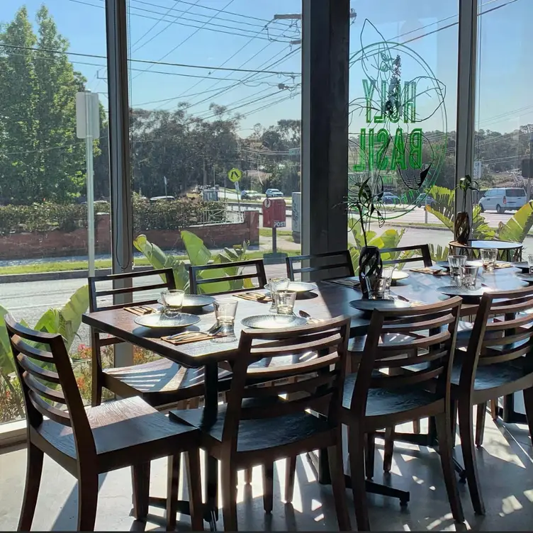
<svg viewBox="0 0 533 533">
<path fill-rule="evenodd" d="M 474 320 L 461 386 L 471 386 L 478 366 L 517 363 L 533 373 L 533 286 L 483 294 Z"/>
</svg>

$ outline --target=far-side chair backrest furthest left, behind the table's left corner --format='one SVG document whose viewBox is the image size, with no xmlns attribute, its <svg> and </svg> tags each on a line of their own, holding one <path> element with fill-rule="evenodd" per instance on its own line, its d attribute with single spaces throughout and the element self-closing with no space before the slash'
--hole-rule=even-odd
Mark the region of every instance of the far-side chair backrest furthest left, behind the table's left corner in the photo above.
<svg viewBox="0 0 533 533">
<path fill-rule="evenodd" d="M 133 285 L 134 280 L 151 276 L 160 276 L 161 281 L 149 285 Z M 109 281 L 113 283 L 113 288 L 99 288 L 101 283 Z M 128 281 L 131 281 L 131 284 L 128 284 L 129 286 L 115 288 L 116 281 L 126 281 L 126 284 L 128 284 Z M 176 288 L 176 281 L 172 269 L 145 270 L 139 272 L 127 272 L 125 274 L 110 274 L 109 276 L 91 276 L 89 278 L 89 311 L 94 313 L 95 311 L 119 309 L 126 305 L 130 305 L 130 303 L 113 303 L 111 305 L 101 303 L 100 298 L 106 296 L 155 290 L 164 291 L 165 289 L 172 290 L 174 288 Z M 148 298 L 142 303 L 157 303 L 157 298 Z"/>
</svg>

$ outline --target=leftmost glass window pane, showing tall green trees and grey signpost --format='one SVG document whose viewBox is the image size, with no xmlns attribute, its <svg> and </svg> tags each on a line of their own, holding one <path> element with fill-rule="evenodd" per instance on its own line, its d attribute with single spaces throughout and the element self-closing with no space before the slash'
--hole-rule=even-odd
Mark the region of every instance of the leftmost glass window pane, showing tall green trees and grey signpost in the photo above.
<svg viewBox="0 0 533 533">
<path fill-rule="evenodd" d="M 0 4 L 0 316 L 9 311 L 32 327 L 62 333 L 86 400 L 89 332 L 78 326 L 89 301 L 91 166 L 96 267 L 111 266 L 101 8 L 63 0 Z M 78 93 L 89 90 L 99 102 L 93 113 L 98 127 L 87 143 L 76 102 Z M 68 305 L 71 298 L 75 305 Z M 21 391 L 0 319 L 0 422 L 21 416 Z"/>
</svg>

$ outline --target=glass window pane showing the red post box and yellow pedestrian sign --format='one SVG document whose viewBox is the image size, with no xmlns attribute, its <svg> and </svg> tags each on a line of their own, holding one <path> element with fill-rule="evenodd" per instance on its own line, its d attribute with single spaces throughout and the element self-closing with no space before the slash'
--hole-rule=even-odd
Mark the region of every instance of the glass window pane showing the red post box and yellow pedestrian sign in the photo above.
<svg viewBox="0 0 533 533">
<path fill-rule="evenodd" d="M 130 0 L 128 21 L 135 265 L 149 244 L 270 254 L 267 197 L 286 203 L 277 251 L 298 253 L 301 0 Z"/>
</svg>

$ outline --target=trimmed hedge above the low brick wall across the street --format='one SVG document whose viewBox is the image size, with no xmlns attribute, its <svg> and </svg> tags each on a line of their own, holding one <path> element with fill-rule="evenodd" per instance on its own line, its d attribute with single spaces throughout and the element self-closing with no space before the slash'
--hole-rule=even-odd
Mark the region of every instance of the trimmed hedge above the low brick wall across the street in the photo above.
<svg viewBox="0 0 533 533">
<path fill-rule="evenodd" d="M 95 213 L 109 213 L 108 203 L 97 203 Z M 203 223 L 225 220 L 225 207 L 218 202 L 179 199 L 148 203 L 133 201 L 133 228 L 136 233 L 147 230 L 175 230 Z M 87 227 L 87 206 L 79 203 L 34 203 L 31 206 L 0 206 L 0 235 L 21 232 L 71 232 Z"/>
</svg>

